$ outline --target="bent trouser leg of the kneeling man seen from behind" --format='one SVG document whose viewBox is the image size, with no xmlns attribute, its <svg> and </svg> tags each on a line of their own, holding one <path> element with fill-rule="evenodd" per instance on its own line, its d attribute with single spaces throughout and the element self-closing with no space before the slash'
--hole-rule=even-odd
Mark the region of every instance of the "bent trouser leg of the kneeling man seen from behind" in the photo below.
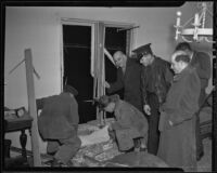
<svg viewBox="0 0 217 173">
<path fill-rule="evenodd" d="M 60 139 L 60 143 L 62 145 L 60 146 L 60 149 L 55 154 L 54 158 L 64 164 L 67 164 L 67 162 L 76 155 L 80 148 L 81 141 L 78 136 L 72 136 L 71 138 Z"/>
</svg>

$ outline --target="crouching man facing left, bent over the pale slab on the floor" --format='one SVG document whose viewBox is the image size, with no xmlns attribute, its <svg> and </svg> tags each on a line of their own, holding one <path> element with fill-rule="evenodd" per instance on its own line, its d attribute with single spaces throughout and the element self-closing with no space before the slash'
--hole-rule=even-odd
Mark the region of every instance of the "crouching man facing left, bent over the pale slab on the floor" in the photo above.
<svg viewBox="0 0 217 173">
<path fill-rule="evenodd" d="M 98 106 L 114 112 L 116 121 L 108 128 L 108 134 L 116 138 L 120 151 L 144 151 L 148 139 L 148 121 L 143 114 L 131 104 L 122 101 L 117 94 L 103 95 Z"/>
</svg>

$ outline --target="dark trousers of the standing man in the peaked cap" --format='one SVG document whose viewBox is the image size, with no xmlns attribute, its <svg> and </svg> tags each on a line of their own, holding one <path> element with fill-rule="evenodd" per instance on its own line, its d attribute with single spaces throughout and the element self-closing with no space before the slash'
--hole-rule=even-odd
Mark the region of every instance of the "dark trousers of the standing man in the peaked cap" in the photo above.
<svg viewBox="0 0 217 173">
<path fill-rule="evenodd" d="M 156 155 L 159 142 L 159 131 L 158 131 L 158 99 L 157 96 L 152 94 L 149 95 L 149 104 L 151 107 L 151 115 L 149 116 L 149 139 L 148 139 L 148 151 L 150 154 Z"/>
</svg>

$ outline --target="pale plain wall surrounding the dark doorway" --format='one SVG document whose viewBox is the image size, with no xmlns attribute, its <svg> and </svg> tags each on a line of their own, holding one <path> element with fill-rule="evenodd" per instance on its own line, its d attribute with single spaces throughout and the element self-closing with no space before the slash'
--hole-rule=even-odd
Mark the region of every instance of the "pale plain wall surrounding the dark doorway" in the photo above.
<svg viewBox="0 0 217 173">
<path fill-rule="evenodd" d="M 24 50 L 33 51 L 33 63 L 40 80 L 35 78 L 36 97 L 58 94 L 61 91 L 61 25 L 60 18 L 84 18 L 93 21 L 133 23 L 135 48 L 152 42 L 153 52 L 169 59 L 177 42 L 174 40 L 176 12 L 182 12 L 182 22 L 193 16 L 195 2 L 180 8 L 51 8 L 8 6 L 5 14 L 5 64 L 4 105 L 10 108 L 27 107 L 25 66 L 22 64 L 13 74 L 9 71 L 24 58 Z M 210 52 L 212 44 L 195 44 Z M 17 133 L 7 134 L 13 146 L 20 146 Z M 30 139 L 27 142 L 30 149 Z M 46 143 L 40 139 L 40 149 Z"/>
</svg>

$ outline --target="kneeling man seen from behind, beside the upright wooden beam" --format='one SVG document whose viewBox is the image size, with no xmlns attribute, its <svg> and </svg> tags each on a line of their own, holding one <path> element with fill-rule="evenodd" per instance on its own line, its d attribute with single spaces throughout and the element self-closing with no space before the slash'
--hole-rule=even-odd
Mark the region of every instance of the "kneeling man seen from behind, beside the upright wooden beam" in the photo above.
<svg viewBox="0 0 217 173">
<path fill-rule="evenodd" d="M 38 129 L 43 139 L 48 141 L 47 152 L 53 155 L 51 167 L 72 165 L 71 159 L 76 155 L 81 142 L 77 136 L 79 123 L 78 92 L 65 85 L 59 95 L 37 99 Z"/>
</svg>

